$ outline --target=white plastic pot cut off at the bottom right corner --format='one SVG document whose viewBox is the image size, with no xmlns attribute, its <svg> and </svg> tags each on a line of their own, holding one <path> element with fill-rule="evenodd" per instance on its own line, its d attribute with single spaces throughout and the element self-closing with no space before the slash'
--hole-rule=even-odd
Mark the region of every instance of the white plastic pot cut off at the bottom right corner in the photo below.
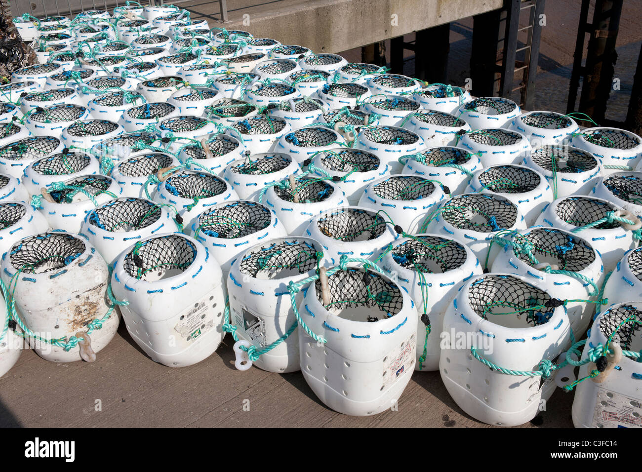
<svg viewBox="0 0 642 472">
<path fill-rule="evenodd" d="M 611 305 L 604 313 L 598 315 L 584 345 L 582 360 L 587 358 L 589 350 L 598 345 L 607 345 L 611 335 L 611 349 L 614 349 L 615 344 L 626 351 L 638 352 L 642 349 L 639 331 L 641 307 L 640 301 L 628 301 Z M 611 355 L 607 356 L 607 361 L 613 362 Z M 594 369 L 596 365 L 593 362 L 582 365 L 579 377 L 586 377 Z M 640 363 L 623 355 L 606 378 L 598 376 L 596 379 L 580 382 L 575 387 L 571 410 L 575 427 L 639 428 L 639 418 L 642 414 L 642 395 L 639 387 L 641 373 Z M 602 381 L 598 383 L 595 380 Z"/>
</svg>

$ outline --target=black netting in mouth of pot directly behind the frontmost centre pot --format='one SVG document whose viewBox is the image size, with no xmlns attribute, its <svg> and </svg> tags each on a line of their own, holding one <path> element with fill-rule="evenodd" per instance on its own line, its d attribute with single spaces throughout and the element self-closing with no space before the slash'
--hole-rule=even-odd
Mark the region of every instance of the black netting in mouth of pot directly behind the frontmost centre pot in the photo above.
<svg viewBox="0 0 642 472">
<path fill-rule="evenodd" d="M 374 211 L 340 208 L 323 213 L 317 220 L 317 227 L 333 240 L 357 242 L 381 236 L 386 231 L 386 222 Z"/>
</svg>

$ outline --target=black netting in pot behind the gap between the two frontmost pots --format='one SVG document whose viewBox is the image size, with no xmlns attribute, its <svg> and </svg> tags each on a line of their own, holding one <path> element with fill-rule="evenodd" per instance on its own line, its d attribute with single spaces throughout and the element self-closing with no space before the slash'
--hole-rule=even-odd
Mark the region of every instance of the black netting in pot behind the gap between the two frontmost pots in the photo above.
<svg viewBox="0 0 642 472">
<path fill-rule="evenodd" d="M 428 274 L 455 270 L 467 259 L 462 244 L 439 236 L 413 236 L 393 247 L 390 255 L 401 267 Z"/>
</svg>

